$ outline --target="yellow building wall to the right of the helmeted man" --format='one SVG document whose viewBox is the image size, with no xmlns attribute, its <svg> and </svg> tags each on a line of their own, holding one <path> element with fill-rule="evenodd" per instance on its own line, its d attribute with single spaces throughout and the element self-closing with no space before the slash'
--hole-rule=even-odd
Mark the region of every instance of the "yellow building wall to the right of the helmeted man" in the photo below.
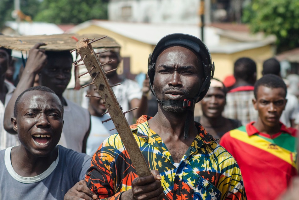
<svg viewBox="0 0 299 200">
<path fill-rule="evenodd" d="M 232 75 L 234 62 L 241 57 L 248 57 L 257 63 L 257 78 L 261 77 L 262 63 L 264 60 L 274 56 L 274 50 L 271 45 L 249 49 L 232 54 L 212 53 L 212 61 L 215 63 L 215 78 L 223 80 L 227 75 Z"/>
</svg>

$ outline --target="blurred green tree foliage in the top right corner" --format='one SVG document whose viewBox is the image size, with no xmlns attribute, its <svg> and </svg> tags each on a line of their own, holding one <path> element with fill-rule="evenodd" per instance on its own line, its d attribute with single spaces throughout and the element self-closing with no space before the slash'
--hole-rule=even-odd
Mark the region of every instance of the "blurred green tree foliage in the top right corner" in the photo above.
<svg viewBox="0 0 299 200">
<path fill-rule="evenodd" d="M 298 0 L 252 0 L 243 12 L 243 22 L 253 32 L 274 34 L 279 51 L 299 47 Z"/>
</svg>

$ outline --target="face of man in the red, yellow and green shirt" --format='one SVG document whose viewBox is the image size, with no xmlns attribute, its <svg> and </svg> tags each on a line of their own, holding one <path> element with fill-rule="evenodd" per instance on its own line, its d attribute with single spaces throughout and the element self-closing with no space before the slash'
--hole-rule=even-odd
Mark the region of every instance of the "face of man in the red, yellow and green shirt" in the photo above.
<svg viewBox="0 0 299 200">
<path fill-rule="evenodd" d="M 259 120 L 264 126 L 273 127 L 279 124 L 279 118 L 285 109 L 287 100 L 284 88 L 259 86 L 257 99 L 253 99 L 254 108 L 258 111 Z"/>
</svg>

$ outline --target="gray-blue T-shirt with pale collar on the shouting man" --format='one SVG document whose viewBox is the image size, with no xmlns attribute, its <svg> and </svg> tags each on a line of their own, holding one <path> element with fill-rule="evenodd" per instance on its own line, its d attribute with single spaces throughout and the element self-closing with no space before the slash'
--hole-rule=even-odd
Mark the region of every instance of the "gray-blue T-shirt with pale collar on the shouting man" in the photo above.
<svg viewBox="0 0 299 200">
<path fill-rule="evenodd" d="M 18 175 L 12 165 L 13 147 L 0 151 L 0 199 L 63 199 L 65 193 L 85 178 L 91 157 L 58 145 L 58 157 L 42 174 Z"/>
</svg>

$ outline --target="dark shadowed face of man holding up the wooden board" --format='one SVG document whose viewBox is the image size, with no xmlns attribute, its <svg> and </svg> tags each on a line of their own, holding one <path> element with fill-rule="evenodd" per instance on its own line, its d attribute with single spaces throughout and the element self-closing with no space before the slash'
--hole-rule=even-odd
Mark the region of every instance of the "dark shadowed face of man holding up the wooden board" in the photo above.
<svg viewBox="0 0 299 200">
<path fill-rule="evenodd" d="M 39 83 L 62 95 L 71 80 L 71 69 L 72 58 L 48 57 L 46 66 L 40 72 Z"/>
</svg>

